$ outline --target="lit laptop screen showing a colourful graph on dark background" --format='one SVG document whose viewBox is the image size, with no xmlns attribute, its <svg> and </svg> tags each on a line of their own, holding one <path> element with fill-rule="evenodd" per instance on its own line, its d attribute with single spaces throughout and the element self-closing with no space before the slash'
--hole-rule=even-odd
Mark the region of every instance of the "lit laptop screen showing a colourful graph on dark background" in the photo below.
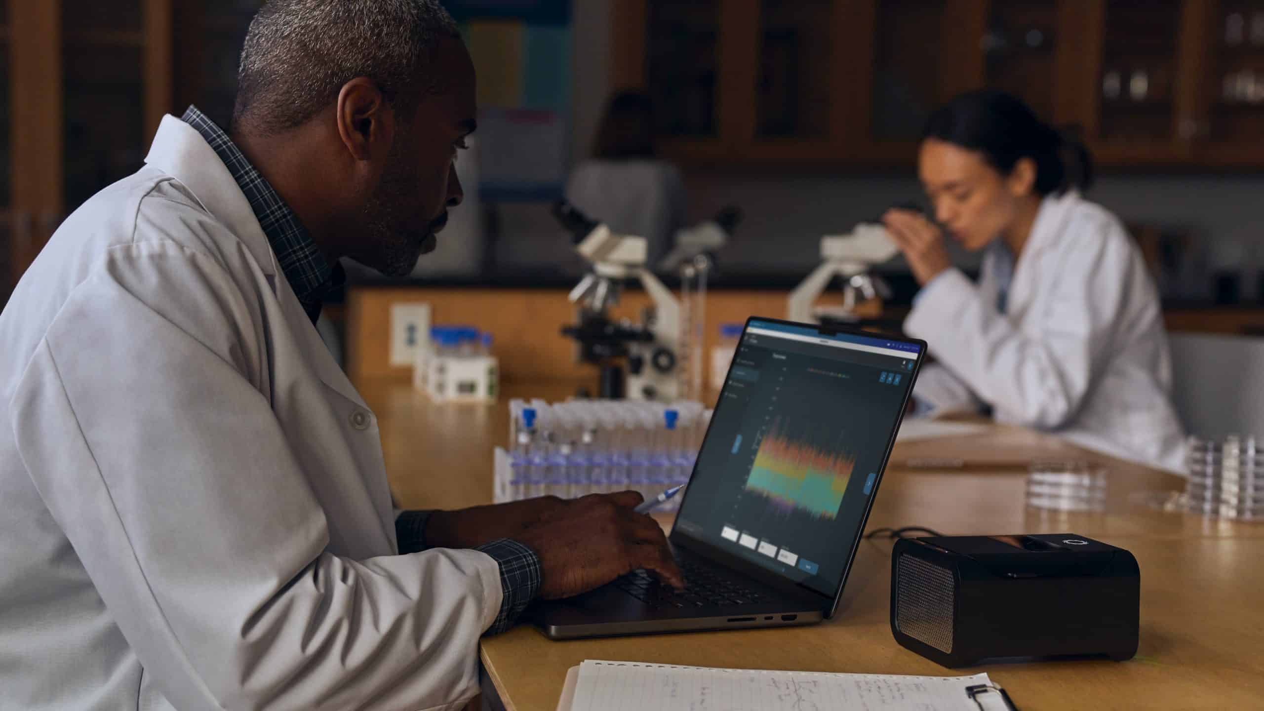
<svg viewBox="0 0 1264 711">
<path fill-rule="evenodd" d="M 920 347 L 752 319 L 676 526 L 833 596 Z"/>
</svg>

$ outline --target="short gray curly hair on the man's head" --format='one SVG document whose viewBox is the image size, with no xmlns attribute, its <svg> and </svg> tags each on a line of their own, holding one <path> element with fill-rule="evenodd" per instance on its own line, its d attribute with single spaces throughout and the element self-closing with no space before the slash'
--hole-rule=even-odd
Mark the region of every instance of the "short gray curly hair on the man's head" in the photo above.
<svg viewBox="0 0 1264 711">
<path fill-rule="evenodd" d="M 442 85 L 416 80 L 436 42 L 458 35 L 437 0 L 268 0 L 241 49 L 233 127 L 265 135 L 300 127 L 356 77 L 408 109 Z"/>
</svg>

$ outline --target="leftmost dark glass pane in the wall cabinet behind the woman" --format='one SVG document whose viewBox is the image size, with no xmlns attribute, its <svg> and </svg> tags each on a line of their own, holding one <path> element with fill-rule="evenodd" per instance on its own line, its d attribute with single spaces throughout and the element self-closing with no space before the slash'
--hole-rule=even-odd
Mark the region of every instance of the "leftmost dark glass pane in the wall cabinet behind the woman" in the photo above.
<svg viewBox="0 0 1264 711">
<path fill-rule="evenodd" d="M 646 22 L 646 87 L 657 134 L 718 135 L 718 0 L 655 0 Z"/>
</svg>

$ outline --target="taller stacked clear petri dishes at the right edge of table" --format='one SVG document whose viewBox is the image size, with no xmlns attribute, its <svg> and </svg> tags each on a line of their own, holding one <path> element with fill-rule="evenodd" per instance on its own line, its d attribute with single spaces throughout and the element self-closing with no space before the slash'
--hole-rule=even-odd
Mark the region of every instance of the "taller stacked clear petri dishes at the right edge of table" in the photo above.
<svg viewBox="0 0 1264 711">
<path fill-rule="evenodd" d="M 1264 521 L 1264 440 L 1189 438 L 1186 506 L 1194 514 Z"/>
</svg>

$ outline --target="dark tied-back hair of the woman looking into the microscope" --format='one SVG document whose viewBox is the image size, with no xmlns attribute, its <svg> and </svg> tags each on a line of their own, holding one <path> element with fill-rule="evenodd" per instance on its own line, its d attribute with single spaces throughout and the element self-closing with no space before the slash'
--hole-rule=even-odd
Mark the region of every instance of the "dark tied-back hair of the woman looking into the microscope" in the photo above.
<svg viewBox="0 0 1264 711">
<path fill-rule="evenodd" d="M 1023 158 L 1035 163 L 1035 192 L 1088 190 L 1093 161 L 1076 132 L 1042 121 L 1026 104 L 1004 91 L 969 91 L 944 104 L 927 121 L 923 138 L 982 153 L 1009 175 Z"/>
</svg>

